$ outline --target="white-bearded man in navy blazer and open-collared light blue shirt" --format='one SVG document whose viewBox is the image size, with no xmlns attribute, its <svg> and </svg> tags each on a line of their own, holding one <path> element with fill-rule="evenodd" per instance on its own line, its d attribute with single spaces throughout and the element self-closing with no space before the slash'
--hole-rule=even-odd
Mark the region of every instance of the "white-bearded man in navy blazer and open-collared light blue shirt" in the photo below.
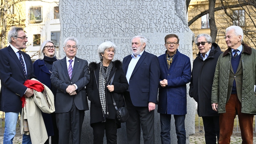
<svg viewBox="0 0 256 144">
<path fill-rule="evenodd" d="M 145 52 L 147 39 L 132 38 L 132 54 L 123 60 L 123 69 L 129 83 L 124 98 L 129 111 L 126 121 L 128 144 L 140 144 L 140 125 L 144 143 L 155 143 L 154 109 L 156 107 L 160 68 L 157 57 Z"/>
</svg>

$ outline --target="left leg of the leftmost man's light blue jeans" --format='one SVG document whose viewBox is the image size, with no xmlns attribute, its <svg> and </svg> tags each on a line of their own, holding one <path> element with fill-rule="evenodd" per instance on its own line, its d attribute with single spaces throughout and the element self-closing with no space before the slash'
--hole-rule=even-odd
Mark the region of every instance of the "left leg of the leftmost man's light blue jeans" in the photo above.
<svg viewBox="0 0 256 144">
<path fill-rule="evenodd" d="M 16 125 L 19 113 L 5 112 L 4 124 L 4 144 L 12 144 L 12 140 L 16 134 Z"/>
</svg>

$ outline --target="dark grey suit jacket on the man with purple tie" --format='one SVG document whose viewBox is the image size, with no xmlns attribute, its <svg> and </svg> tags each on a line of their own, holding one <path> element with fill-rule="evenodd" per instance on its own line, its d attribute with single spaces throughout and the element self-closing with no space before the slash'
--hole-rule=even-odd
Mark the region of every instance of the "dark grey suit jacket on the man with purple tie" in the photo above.
<svg viewBox="0 0 256 144">
<path fill-rule="evenodd" d="M 89 83 L 90 74 L 87 60 L 75 57 L 74 68 L 71 80 L 68 76 L 66 57 L 53 62 L 51 81 L 57 88 L 55 113 L 68 112 L 74 100 L 76 108 L 79 110 L 88 110 L 88 101 L 85 86 Z M 66 92 L 68 85 L 76 84 L 76 95 L 71 96 Z"/>
</svg>

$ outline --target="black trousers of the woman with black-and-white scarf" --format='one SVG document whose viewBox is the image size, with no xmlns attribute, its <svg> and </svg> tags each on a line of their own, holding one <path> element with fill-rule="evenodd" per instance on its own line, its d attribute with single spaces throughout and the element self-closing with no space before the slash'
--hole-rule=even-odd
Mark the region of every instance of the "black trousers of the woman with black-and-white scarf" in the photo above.
<svg viewBox="0 0 256 144">
<path fill-rule="evenodd" d="M 91 125 L 93 129 L 93 143 L 103 144 L 104 133 L 108 144 L 117 144 L 117 127 L 114 119 L 106 119 L 106 122 L 94 123 Z"/>
</svg>

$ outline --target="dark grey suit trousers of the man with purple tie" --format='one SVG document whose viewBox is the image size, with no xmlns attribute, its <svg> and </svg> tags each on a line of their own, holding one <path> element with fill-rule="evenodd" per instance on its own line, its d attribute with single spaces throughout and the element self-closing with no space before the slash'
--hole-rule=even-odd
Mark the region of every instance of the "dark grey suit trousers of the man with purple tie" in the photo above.
<svg viewBox="0 0 256 144">
<path fill-rule="evenodd" d="M 59 129 L 59 144 L 69 143 L 71 131 L 72 143 L 80 144 L 84 110 L 79 110 L 73 101 L 72 107 L 67 113 L 56 113 L 56 122 Z"/>
</svg>

